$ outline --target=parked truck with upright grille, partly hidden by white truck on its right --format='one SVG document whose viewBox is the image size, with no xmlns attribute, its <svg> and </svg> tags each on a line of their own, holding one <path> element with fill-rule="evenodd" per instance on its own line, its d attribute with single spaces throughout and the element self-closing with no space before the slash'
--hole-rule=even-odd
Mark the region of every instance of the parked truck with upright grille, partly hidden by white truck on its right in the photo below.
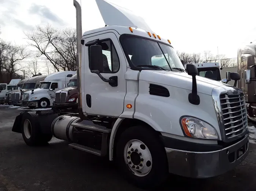
<svg viewBox="0 0 256 191">
<path fill-rule="evenodd" d="M 10 104 L 14 106 L 21 106 L 22 105 L 22 95 L 31 90 L 36 89 L 40 85 L 40 81 L 44 80 L 46 78 L 46 75 L 38 75 L 35 77 L 31 77 L 28 79 L 25 79 L 22 88 L 17 89 L 11 92 L 10 95 Z"/>
</svg>

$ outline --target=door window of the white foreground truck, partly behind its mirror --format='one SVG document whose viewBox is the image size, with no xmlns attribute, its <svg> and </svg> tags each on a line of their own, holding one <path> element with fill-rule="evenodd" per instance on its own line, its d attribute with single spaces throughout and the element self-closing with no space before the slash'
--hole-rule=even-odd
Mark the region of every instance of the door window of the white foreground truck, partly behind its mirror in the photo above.
<svg viewBox="0 0 256 191">
<path fill-rule="evenodd" d="M 104 40 L 99 45 L 102 46 L 103 57 L 103 72 L 102 73 L 116 73 L 119 70 L 119 58 L 115 46 L 111 40 Z M 91 66 L 89 65 L 91 69 Z"/>
</svg>

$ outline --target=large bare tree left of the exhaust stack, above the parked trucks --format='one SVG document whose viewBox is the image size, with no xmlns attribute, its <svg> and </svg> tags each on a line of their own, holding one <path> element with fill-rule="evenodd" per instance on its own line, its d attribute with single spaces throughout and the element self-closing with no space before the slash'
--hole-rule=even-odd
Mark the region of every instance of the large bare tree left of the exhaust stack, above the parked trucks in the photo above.
<svg viewBox="0 0 256 191">
<path fill-rule="evenodd" d="M 72 28 L 58 30 L 47 24 L 36 26 L 25 33 L 29 45 L 36 49 L 37 57 L 43 56 L 55 68 L 60 70 L 76 70 L 76 31 Z"/>
</svg>

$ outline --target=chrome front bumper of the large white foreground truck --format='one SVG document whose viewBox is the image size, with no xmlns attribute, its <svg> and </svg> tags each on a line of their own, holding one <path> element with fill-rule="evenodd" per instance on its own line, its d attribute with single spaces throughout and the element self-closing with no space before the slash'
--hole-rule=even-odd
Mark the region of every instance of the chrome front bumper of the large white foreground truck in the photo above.
<svg viewBox="0 0 256 191">
<path fill-rule="evenodd" d="M 249 134 L 234 145 L 210 152 L 165 148 L 169 172 L 191 178 L 208 178 L 226 173 L 248 155 Z"/>
</svg>

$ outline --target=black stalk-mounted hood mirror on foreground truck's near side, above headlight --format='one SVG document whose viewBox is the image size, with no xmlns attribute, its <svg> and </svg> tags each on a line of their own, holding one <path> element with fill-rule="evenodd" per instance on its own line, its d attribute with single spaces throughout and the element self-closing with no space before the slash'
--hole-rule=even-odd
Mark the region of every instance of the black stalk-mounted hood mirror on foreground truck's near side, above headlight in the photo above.
<svg viewBox="0 0 256 191">
<path fill-rule="evenodd" d="M 200 98 L 197 95 L 197 86 L 196 86 L 196 75 L 198 75 L 198 70 L 195 65 L 187 64 L 187 73 L 192 76 L 192 93 L 188 94 L 188 101 L 194 105 L 199 105 Z"/>
</svg>

